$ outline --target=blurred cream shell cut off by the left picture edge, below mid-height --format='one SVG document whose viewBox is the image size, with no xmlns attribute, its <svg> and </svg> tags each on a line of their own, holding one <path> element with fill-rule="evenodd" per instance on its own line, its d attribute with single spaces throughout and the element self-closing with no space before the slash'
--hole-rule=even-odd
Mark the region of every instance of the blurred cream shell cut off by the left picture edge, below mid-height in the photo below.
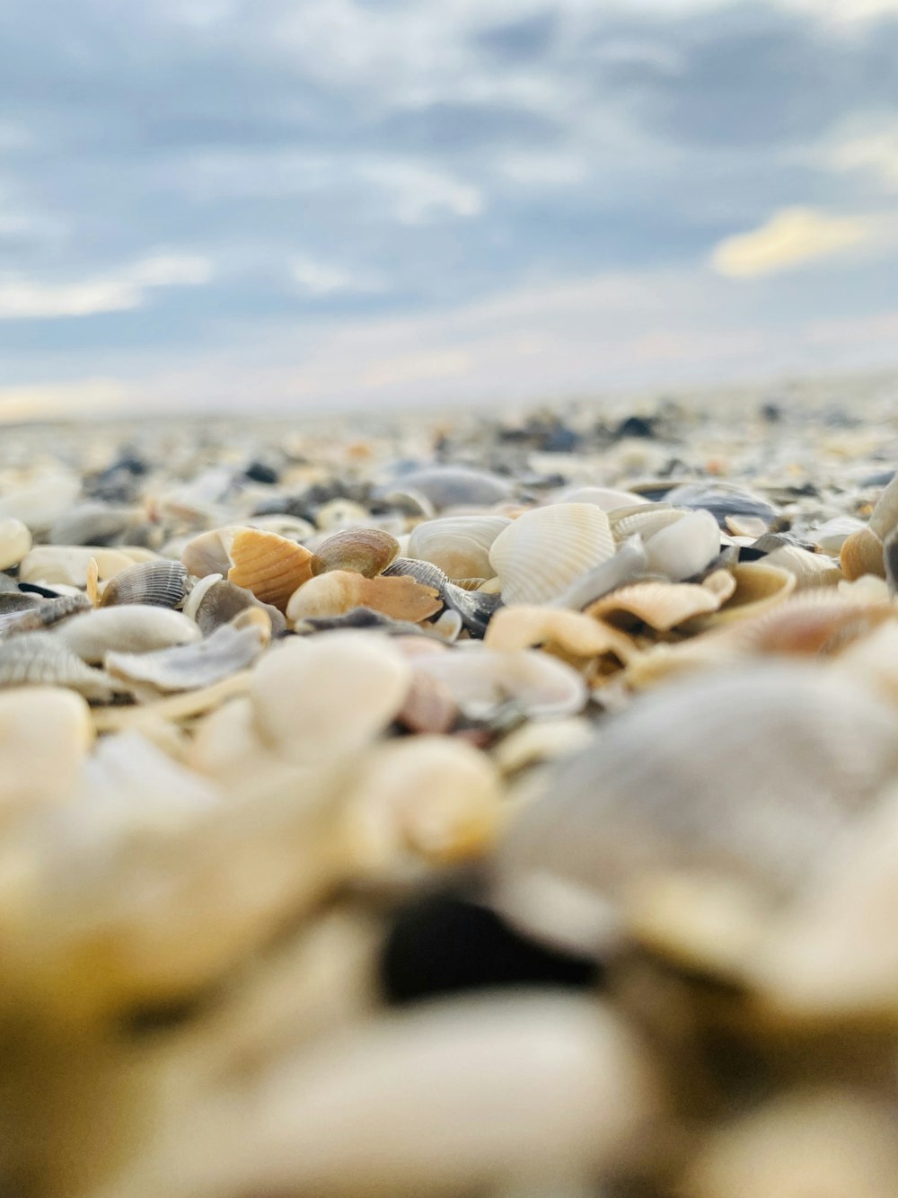
<svg viewBox="0 0 898 1198">
<path fill-rule="evenodd" d="M 0 694 L 0 822 L 71 798 L 93 742 L 90 708 L 61 686 Z"/>
</svg>

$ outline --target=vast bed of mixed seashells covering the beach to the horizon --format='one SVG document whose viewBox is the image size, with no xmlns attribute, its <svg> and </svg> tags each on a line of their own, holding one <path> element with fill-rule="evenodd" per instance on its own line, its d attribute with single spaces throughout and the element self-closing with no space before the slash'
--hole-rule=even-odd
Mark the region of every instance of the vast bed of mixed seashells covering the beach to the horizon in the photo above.
<svg viewBox="0 0 898 1198">
<path fill-rule="evenodd" d="M 5 432 L 0 1192 L 898 1193 L 898 420 L 807 419 Z"/>
</svg>

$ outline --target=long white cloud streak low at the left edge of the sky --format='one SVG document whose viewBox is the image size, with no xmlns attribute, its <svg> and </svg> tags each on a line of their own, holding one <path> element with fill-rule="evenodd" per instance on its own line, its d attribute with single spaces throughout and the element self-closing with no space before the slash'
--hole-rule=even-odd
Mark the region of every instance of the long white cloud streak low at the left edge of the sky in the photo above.
<svg viewBox="0 0 898 1198">
<path fill-rule="evenodd" d="M 196 286 L 212 278 L 211 264 L 196 255 L 146 258 L 107 277 L 80 283 L 35 283 L 0 276 L 0 320 L 93 316 L 140 308 L 151 288 Z"/>
</svg>

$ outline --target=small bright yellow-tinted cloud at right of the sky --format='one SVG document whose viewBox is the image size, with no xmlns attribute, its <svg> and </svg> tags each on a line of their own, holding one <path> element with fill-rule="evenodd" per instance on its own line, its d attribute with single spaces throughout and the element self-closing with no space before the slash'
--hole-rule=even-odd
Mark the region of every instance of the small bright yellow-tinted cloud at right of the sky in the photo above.
<svg viewBox="0 0 898 1198">
<path fill-rule="evenodd" d="M 750 279 L 805 266 L 856 246 L 873 235 L 862 217 L 833 217 L 814 208 L 783 208 L 750 232 L 726 237 L 711 254 L 718 274 Z"/>
</svg>

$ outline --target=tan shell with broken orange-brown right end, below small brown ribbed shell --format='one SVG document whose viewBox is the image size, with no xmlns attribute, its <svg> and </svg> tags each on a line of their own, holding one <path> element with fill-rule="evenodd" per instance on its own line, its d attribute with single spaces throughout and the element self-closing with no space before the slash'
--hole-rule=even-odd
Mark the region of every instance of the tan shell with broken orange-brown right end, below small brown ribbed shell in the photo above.
<svg viewBox="0 0 898 1198">
<path fill-rule="evenodd" d="M 408 576 L 366 579 L 348 570 L 329 570 L 304 583 L 286 607 L 287 619 L 341 616 L 353 607 L 369 607 L 393 619 L 412 623 L 435 616 L 443 601 L 432 587 Z"/>
</svg>

